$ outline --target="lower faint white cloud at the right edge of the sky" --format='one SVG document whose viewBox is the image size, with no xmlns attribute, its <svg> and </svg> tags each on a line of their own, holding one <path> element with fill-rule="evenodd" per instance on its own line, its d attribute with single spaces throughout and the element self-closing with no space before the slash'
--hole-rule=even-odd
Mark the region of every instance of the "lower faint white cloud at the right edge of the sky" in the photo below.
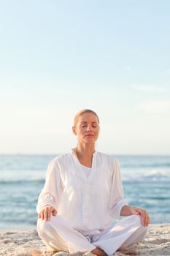
<svg viewBox="0 0 170 256">
<path fill-rule="evenodd" d="M 155 101 L 142 102 L 139 105 L 137 105 L 137 108 L 145 113 L 166 114 L 166 113 L 170 113 L 170 101 L 155 100 Z"/>
</svg>

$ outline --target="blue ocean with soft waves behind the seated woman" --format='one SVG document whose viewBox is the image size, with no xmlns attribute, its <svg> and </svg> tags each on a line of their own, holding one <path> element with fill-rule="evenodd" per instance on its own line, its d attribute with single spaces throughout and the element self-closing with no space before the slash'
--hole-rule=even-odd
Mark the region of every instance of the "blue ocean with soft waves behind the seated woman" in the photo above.
<svg viewBox="0 0 170 256">
<path fill-rule="evenodd" d="M 0 155 L 0 229 L 35 228 L 36 203 L 54 155 Z M 115 156 L 124 197 L 151 224 L 170 222 L 170 156 Z"/>
</svg>

